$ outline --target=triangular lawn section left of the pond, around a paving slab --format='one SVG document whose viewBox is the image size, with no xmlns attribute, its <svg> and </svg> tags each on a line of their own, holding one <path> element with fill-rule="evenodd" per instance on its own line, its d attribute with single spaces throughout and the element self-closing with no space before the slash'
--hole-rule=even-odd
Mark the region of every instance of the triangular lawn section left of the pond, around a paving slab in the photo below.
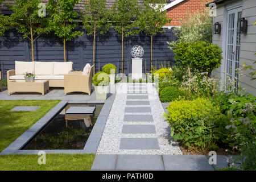
<svg viewBox="0 0 256 182">
<path fill-rule="evenodd" d="M 59 100 L 0 101 L 0 152 L 52 109 Z M 41 106 L 36 111 L 10 111 L 15 106 Z"/>
</svg>

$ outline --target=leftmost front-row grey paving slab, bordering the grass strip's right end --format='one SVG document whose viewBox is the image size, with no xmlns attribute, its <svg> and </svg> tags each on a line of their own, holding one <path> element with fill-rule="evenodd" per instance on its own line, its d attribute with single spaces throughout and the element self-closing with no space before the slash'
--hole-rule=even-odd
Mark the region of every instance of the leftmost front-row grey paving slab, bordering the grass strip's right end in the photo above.
<svg viewBox="0 0 256 182">
<path fill-rule="evenodd" d="M 114 170 L 117 155 L 96 155 L 91 170 Z"/>
</svg>

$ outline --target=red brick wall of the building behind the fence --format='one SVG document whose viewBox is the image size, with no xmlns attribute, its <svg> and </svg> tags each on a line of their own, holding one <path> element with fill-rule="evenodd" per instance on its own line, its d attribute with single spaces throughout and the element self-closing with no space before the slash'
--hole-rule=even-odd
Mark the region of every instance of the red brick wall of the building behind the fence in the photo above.
<svg viewBox="0 0 256 182">
<path fill-rule="evenodd" d="M 186 18 L 187 13 L 193 13 L 197 10 L 202 10 L 205 4 L 212 2 L 212 0 L 185 0 L 178 3 L 175 6 L 170 7 L 167 10 L 166 15 L 171 18 L 171 23 L 167 23 L 166 26 L 180 26 L 180 20 Z"/>
</svg>

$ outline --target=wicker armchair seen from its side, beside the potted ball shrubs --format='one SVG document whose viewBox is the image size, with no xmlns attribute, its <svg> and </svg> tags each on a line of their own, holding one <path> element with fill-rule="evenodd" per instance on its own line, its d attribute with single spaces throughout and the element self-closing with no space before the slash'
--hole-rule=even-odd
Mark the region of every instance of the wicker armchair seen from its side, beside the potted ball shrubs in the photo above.
<svg viewBox="0 0 256 182">
<path fill-rule="evenodd" d="M 92 72 L 93 67 L 90 67 L 88 76 L 82 75 L 82 72 L 69 72 L 68 75 L 64 75 L 64 94 L 70 92 L 92 92 Z"/>
</svg>

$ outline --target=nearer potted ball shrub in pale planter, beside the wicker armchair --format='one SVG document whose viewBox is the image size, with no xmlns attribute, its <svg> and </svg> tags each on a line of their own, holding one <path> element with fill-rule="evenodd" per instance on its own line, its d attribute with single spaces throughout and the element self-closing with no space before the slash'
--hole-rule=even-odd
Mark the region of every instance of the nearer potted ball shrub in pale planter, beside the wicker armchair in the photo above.
<svg viewBox="0 0 256 182">
<path fill-rule="evenodd" d="M 98 72 L 92 78 L 96 93 L 96 100 L 106 100 L 109 85 L 109 76 L 105 72 Z"/>
</svg>

